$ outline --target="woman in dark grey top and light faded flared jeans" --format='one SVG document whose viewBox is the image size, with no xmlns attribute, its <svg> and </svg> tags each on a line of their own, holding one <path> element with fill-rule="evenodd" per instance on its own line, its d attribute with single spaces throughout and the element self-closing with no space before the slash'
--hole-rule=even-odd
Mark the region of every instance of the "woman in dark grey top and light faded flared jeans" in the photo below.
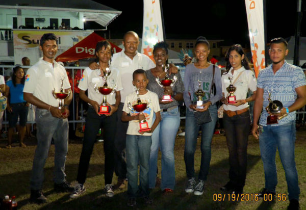
<svg viewBox="0 0 306 210">
<path fill-rule="evenodd" d="M 174 144 L 177 130 L 180 126 L 179 101 L 183 100 L 184 84 L 181 74 L 171 74 L 171 79 L 177 77 L 174 86 L 162 88 L 156 82 L 156 78 L 163 80 L 165 71 L 163 65 L 168 61 L 168 44 L 158 42 L 153 49 L 155 68 L 146 71 L 146 76 L 149 81 L 147 89 L 155 92 L 159 97 L 162 120 L 152 134 L 152 145 L 150 151 L 149 164 L 149 188 L 154 188 L 156 185 L 156 169 L 158 151 L 162 153 L 162 181 L 161 189 L 164 193 L 173 192 L 175 186 L 175 165 L 174 165 Z M 168 74 L 168 72 L 167 72 Z M 163 95 L 171 95 L 173 101 L 163 101 Z"/>
</svg>

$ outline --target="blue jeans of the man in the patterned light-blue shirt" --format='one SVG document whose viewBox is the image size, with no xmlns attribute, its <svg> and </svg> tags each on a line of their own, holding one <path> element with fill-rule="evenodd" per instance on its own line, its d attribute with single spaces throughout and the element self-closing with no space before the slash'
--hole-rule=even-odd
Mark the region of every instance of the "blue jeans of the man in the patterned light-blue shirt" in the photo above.
<svg viewBox="0 0 306 210">
<path fill-rule="evenodd" d="M 278 148 L 279 157 L 283 164 L 287 187 L 288 198 L 299 198 L 300 190 L 298 187 L 297 170 L 294 160 L 294 142 L 295 142 L 295 121 L 285 125 L 263 126 L 259 135 L 259 145 L 261 158 L 265 171 L 265 188 L 275 192 L 277 185 L 277 173 L 275 164 L 276 147 Z"/>
</svg>

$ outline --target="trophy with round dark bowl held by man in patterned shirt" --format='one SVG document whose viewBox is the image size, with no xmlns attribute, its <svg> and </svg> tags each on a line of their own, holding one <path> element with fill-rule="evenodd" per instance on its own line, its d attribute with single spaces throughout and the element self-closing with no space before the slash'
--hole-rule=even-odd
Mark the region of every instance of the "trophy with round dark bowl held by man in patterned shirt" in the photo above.
<svg viewBox="0 0 306 210">
<path fill-rule="evenodd" d="M 270 113 L 269 116 L 267 117 L 267 125 L 270 125 L 270 124 L 278 123 L 277 120 L 280 120 L 283 117 L 286 117 L 287 114 L 279 116 L 279 117 L 274 115 L 274 114 L 281 113 L 281 111 L 283 109 L 283 103 L 279 100 L 273 100 L 272 101 L 270 91 L 268 91 L 268 94 L 269 94 L 269 96 L 268 96 L 269 104 L 266 107 L 266 111 Z"/>
</svg>

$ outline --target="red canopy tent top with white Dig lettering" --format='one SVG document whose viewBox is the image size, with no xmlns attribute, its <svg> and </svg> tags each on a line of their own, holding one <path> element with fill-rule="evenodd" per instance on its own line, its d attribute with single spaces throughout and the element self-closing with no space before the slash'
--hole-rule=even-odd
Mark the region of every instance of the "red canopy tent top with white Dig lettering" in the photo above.
<svg viewBox="0 0 306 210">
<path fill-rule="evenodd" d="M 103 37 L 100 37 L 96 33 L 92 33 L 91 35 L 87 36 L 82 41 L 75 44 L 73 47 L 67 49 L 65 52 L 63 52 L 61 55 L 59 55 L 56 58 L 56 61 L 77 61 L 80 59 L 86 59 L 86 58 L 94 58 L 94 50 L 96 47 L 97 42 L 99 41 L 105 41 L 106 39 Z M 111 42 L 110 42 L 111 43 Z M 111 43 L 112 50 L 114 53 L 120 52 L 122 49 L 118 47 L 117 45 Z"/>
</svg>

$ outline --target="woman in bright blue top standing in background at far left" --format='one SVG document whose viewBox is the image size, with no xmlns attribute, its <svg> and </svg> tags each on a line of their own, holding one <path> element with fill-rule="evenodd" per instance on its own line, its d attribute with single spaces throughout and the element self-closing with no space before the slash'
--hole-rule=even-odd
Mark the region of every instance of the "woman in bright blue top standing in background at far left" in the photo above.
<svg viewBox="0 0 306 210">
<path fill-rule="evenodd" d="M 16 66 L 13 69 L 12 80 L 7 82 L 7 88 L 5 95 L 9 98 L 7 105 L 8 119 L 9 119 L 9 132 L 8 132 L 8 145 L 6 148 L 12 147 L 12 138 L 14 134 L 14 128 L 17 124 L 19 117 L 18 133 L 20 135 L 19 146 L 25 147 L 23 143 L 25 135 L 25 124 L 27 123 L 27 116 L 29 112 L 29 105 L 27 101 L 23 99 L 24 88 L 24 71 L 21 66 Z"/>
</svg>

